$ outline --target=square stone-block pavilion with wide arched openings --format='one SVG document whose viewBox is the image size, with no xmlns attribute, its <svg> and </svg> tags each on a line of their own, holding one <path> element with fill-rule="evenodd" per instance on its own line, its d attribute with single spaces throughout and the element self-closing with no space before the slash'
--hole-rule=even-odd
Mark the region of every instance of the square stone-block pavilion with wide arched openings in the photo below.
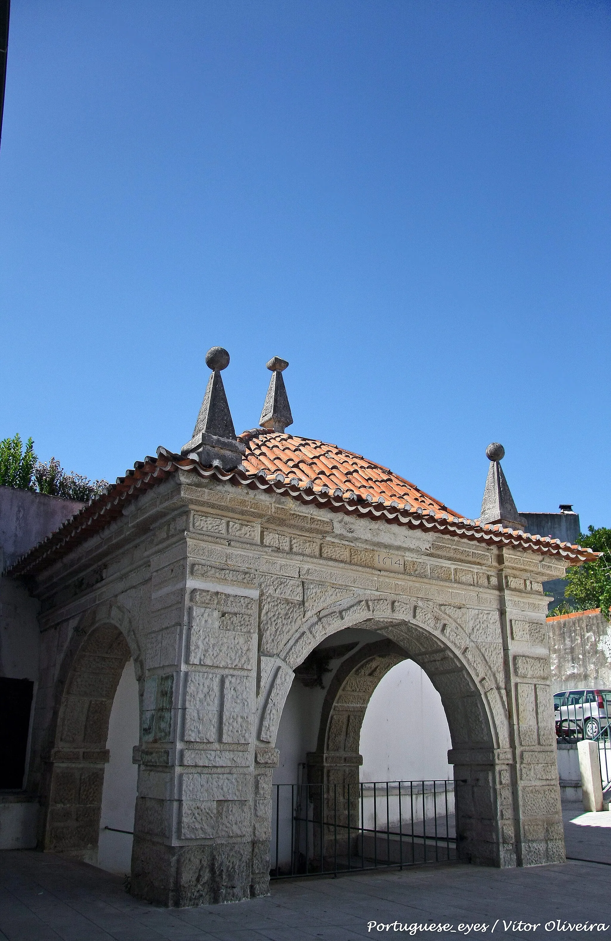
<svg viewBox="0 0 611 941">
<path fill-rule="evenodd" d="M 541 582 L 581 550 L 441 506 L 298 487 L 286 472 L 247 478 L 160 452 L 16 570 L 40 599 L 30 781 L 46 805 L 44 845 L 93 852 L 105 723 L 131 653 L 142 693 L 132 890 L 171 905 L 265 894 L 293 671 L 333 634 L 362 628 L 442 696 L 459 855 L 563 859 Z M 340 704 L 331 712 L 339 719 Z"/>
</svg>

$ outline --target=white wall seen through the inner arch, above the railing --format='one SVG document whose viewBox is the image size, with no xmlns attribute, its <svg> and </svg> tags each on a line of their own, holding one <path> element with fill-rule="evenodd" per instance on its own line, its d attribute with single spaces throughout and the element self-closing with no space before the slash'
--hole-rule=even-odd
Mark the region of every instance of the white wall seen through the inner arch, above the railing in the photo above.
<svg viewBox="0 0 611 941">
<path fill-rule="evenodd" d="M 451 747 L 442 697 L 416 663 L 397 663 L 378 683 L 362 721 L 361 780 L 451 778 Z"/>
</svg>

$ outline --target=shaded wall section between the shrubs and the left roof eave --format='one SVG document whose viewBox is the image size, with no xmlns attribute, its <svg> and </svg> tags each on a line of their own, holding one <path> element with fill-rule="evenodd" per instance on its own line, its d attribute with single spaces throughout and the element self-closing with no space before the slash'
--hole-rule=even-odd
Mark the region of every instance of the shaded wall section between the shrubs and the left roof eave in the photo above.
<svg viewBox="0 0 611 941">
<path fill-rule="evenodd" d="M 83 505 L 46 493 L 0 486 L 0 572 L 55 533 Z"/>
</svg>

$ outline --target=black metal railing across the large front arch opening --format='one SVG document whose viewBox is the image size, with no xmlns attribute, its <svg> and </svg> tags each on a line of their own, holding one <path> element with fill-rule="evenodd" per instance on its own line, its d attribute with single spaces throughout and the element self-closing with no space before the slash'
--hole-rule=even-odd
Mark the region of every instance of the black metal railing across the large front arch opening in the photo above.
<svg viewBox="0 0 611 941">
<path fill-rule="evenodd" d="M 277 784 L 272 879 L 456 859 L 453 781 Z"/>
</svg>

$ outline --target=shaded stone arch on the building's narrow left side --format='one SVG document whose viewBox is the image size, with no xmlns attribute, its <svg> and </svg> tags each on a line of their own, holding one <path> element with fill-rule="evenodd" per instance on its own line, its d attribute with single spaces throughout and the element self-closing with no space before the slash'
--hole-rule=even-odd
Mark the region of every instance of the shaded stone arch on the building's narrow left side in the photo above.
<svg viewBox="0 0 611 941">
<path fill-rule="evenodd" d="M 129 638 L 129 640 L 128 640 Z M 77 624 L 56 683 L 42 848 L 94 862 L 108 761 L 108 721 L 125 663 L 142 658 L 129 614 L 101 605 Z"/>
</svg>

